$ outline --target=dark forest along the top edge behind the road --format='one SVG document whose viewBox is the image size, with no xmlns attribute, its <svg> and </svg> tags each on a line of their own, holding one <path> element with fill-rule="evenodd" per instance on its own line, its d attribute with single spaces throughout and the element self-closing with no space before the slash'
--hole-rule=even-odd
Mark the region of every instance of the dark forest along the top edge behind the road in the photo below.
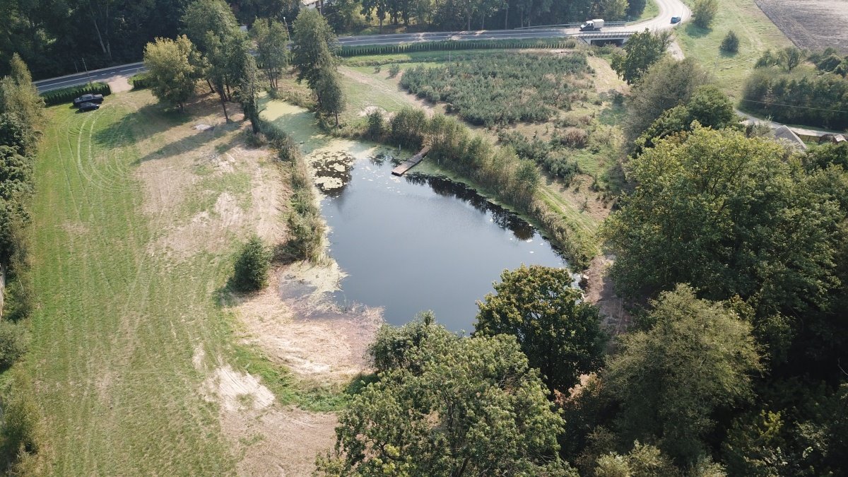
<svg viewBox="0 0 848 477">
<path fill-rule="evenodd" d="M 144 45 L 184 33 L 190 0 L 3 0 L 0 75 L 17 52 L 37 79 L 141 61 Z M 240 25 L 271 18 L 291 27 L 298 0 L 232 0 Z M 355 34 L 372 22 L 413 25 L 416 31 L 514 28 L 521 25 L 638 17 L 644 0 L 335 0 L 322 13 L 337 33 Z M 382 29 L 381 29 L 382 30 Z M 377 32 L 377 31 L 375 31 Z"/>
</svg>

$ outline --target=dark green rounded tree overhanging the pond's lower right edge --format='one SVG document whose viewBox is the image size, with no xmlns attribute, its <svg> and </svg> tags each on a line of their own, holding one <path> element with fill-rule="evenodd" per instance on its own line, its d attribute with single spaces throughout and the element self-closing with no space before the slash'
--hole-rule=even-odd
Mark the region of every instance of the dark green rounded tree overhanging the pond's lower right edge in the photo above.
<svg viewBox="0 0 848 477">
<path fill-rule="evenodd" d="M 598 308 L 581 301 L 566 268 L 533 265 L 500 275 L 496 295 L 477 301 L 475 335 L 516 336 L 550 390 L 566 391 L 602 361 L 605 334 Z"/>
</svg>

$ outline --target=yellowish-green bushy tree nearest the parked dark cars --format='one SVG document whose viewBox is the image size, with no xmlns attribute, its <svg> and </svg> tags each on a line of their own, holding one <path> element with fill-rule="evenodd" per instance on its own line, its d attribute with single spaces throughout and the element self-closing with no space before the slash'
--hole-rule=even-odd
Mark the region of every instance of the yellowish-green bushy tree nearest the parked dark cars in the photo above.
<svg viewBox="0 0 848 477">
<path fill-rule="evenodd" d="M 156 38 L 144 48 L 144 67 L 153 95 L 159 101 L 176 104 L 180 110 L 194 96 L 197 87 L 195 62 L 198 55 L 187 36 L 176 40 Z M 192 60 L 194 59 L 194 60 Z"/>
</svg>

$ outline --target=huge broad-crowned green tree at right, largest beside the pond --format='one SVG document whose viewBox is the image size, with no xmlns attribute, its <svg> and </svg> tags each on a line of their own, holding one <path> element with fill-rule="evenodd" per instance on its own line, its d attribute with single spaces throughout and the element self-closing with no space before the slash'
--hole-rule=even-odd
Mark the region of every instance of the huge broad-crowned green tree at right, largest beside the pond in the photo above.
<svg viewBox="0 0 848 477">
<path fill-rule="evenodd" d="M 691 283 L 711 300 L 749 300 L 758 317 L 824 306 L 838 283 L 839 205 L 788 155 L 696 127 L 633 159 L 636 188 L 602 230 L 616 283 L 648 295 Z"/>
</svg>

